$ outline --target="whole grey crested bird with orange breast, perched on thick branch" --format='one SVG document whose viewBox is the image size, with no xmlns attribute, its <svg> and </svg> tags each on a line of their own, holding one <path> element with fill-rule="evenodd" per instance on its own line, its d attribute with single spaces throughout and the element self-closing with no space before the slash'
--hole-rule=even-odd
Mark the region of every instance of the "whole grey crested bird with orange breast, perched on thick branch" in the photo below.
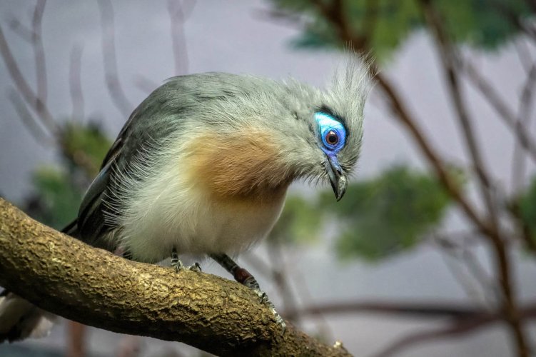
<svg viewBox="0 0 536 357">
<path fill-rule="evenodd" d="M 266 238 L 290 183 L 330 183 L 340 200 L 360 156 L 370 90 L 354 57 L 321 90 L 295 79 L 209 72 L 168 79 L 133 111 L 64 232 L 133 261 L 210 257 L 275 311 L 233 257 Z M 191 270 L 199 271 L 196 263 Z M 0 342 L 54 320 L 0 295 Z"/>
</svg>

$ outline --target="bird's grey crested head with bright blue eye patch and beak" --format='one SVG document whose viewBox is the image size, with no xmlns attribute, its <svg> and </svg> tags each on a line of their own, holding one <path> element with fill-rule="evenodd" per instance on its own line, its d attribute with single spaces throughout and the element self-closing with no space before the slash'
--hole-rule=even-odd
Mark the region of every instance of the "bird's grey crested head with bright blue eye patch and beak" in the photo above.
<svg viewBox="0 0 536 357">
<path fill-rule="evenodd" d="M 350 61 L 323 91 L 296 81 L 286 86 L 284 110 L 272 119 L 280 156 L 295 178 L 328 181 L 339 201 L 360 154 L 369 69 Z"/>
</svg>

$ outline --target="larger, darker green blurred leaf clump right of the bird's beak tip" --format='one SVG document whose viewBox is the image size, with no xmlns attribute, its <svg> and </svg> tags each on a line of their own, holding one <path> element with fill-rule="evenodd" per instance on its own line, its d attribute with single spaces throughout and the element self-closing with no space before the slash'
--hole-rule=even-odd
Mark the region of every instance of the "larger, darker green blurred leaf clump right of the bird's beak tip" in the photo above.
<svg viewBox="0 0 536 357">
<path fill-rule="evenodd" d="M 328 204 L 329 198 L 322 201 L 338 221 L 339 256 L 368 261 L 420 243 L 440 223 L 450 200 L 435 178 L 401 166 L 351 185 L 336 204 Z"/>
</svg>

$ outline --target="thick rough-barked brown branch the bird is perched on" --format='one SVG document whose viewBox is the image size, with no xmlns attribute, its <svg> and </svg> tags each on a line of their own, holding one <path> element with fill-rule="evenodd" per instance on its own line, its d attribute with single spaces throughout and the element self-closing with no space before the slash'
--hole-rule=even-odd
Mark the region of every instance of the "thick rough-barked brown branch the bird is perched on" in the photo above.
<svg viewBox="0 0 536 357">
<path fill-rule="evenodd" d="M 234 281 L 127 261 L 0 198 L 0 286 L 86 325 L 180 341 L 220 356 L 350 356 L 287 323 Z"/>
</svg>

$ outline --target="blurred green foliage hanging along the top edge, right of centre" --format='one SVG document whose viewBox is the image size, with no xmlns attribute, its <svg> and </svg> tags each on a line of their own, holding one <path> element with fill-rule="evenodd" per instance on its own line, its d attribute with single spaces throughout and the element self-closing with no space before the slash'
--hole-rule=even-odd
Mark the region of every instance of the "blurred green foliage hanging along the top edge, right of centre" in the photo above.
<svg viewBox="0 0 536 357">
<path fill-rule="evenodd" d="M 326 19 L 315 1 L 272 0 L 292 15 L 308 17 L 302 34 L 293 40 L 300 48 L 343 48 L 336 26 Z M 333 1 L 323 1 L 333 4 Z M 444 21 L 452 41 L 478 49 L 496 49 L 520 31 L 513 19 L 532 15 L 525 0 L 435 0 L 433 6 Z M 425 28 L 425 16 L 416 0 L 345 0 L 343 17 L 353 39 L 365 44 L 376 59 L 385 61 L 415 30 Z"/>
</svg>

